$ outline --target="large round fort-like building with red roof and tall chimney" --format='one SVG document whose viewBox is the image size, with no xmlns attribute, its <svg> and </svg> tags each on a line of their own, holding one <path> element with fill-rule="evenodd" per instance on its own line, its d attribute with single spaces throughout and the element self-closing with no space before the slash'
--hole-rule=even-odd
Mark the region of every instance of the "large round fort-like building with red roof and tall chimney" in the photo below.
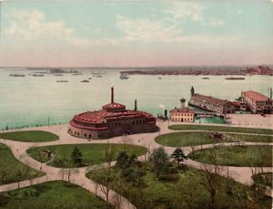
<svg viewBox="0 0 273 209">
<path fill-rule="evenodd" d="M 68 132 L 86 139 L 106 139 L 125 134 L 157 131 L 156 118 L 152 114 L 126 110 L 126 106 L 114 102 L 114 89 L 111 88 L 111 103 L 102 110 L 87 111 L 70 120 Z"/>
</svg>

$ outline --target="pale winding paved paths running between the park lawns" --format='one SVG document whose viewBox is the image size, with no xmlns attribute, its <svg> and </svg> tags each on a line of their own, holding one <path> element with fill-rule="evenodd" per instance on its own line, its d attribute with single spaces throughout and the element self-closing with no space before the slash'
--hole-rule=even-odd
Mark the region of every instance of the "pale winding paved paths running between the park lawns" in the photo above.
<svg viewBox="0 0 273 209">
<path fill-rule="evenodd" d="M 159 122 L 158 126 L 160 127 L 160 131 L 154 132 L 154 133 L 141 133 L 136 135 L 129 135 L 129 136 L 120 136 L 111 138 L 108 141 L 107 140 L 96 140 L 96 141 L 87 141 L 86 139 L 76 138 L 67 133 L 68 126 L 67 125 L 56 125 L 56 126 L 50 126 L 50 127 L 35 127 L 35 128 L 28 128 L 24 129 L 25 131 L 29 130 L 40 130 L 40 131 L 51 131 L 59 136 L 58 141 L 48 141 L 48 142 L 22 142 L 22 141 L 9 141 L 9 140 L 2 140 L 0 139 L 0 142 L 5 143 L 5 145 L 9 146 L 12 152 L 15 155 L 15 158 L 21 162 L 24 162 L 28 166 L 45 172 L 46 176 L 36 178 L 32 181 L 33 184 L 36 183 L 44 183 L 46 181 L 55 181 L 55 180 L 66 180 L 67 181 L 67 173 L 68 169 L 65 169 L 64 171 L 60 168 L 55 168 L 49 165 L 46 165 L 45 163 L 37 162 L 33 158 L 29 157 L 26 154 L 26 150 L 31 147 L 40 147 L 40 146 L 48 146 L 48 145 L 60 145 L 60 144 L 79 144 L 79 143 L 129 143 L 129 144 L 135 144 L 144 146 L 147 148 L 148 152 L 152 152 L 154 149 L 157 149 L 161 145 L 158 144 L 154 139 L 160 135 L 170 132 L 177 132 L 168 130 L 168 125 L 171 125 L 170 122 Z M 193 130 L 195 131 L 195 130 Z M 230 133 L 230 132 L 229 132 Z M 238 134 L 249 134 L 249 135 L 261 135 L 261 134 L 250 134 L 250 133 L 238 133 Z M 261 142 L 245 142 L 247 145 L 273 145 L 273 143 L 261 143 Z M 201 146 L 196 146 L 195 149 L 204 149 L 204 148 L 210 148 L 214 146 L 215 144 L 206 144 Z M 230 145 L 236 145 L 235 143 L 225 143 L 225 146 Z M 165 146 L 165 150 L 168 154 L 171 154 L 174 152 L 174 147 L 167 147 Z M 190 152 L 190 147 L 183 147 L 183 150 L 188 154 Z M 142 161 L 147 160 L 147 155 L 141 156 L 140 159 Z M 187 165 L 195 167 L 197 169 L 202 169 L 203 163 L 201 162 L 195 162 L 190 159 L 187 160 Z M 245 183 L 245 184 L 252 184 L 253 181 L 251 179 L 252 172 L 248 167 L 234 167 L 234 166 L 221 166 L 224 170 L 222 172 L 223 176 L 228 176 L 233 178 L 234 180 L 238 181 L 239 183 Z M 92 169 L 92 168 L 91 168 Z M 86 178 L 86 171 L 90 170 L 89 168 L 78 168 L 74 169 L 73 174 L 71 175 L 71 183 L 75 183 L 77 185 L 80 185 L 87 190 L 89 190 L 92 193 L 96 192 L 95 183 L 92 182 L 90 179 Z M 272 167 L 264 168 L 264 172 L 273 172 Z M 65 174 L 63 174 L 65 173 Z M 24 181 L 20 183 L 20 186 L 28 186 L 31 182 Z M 0 191 L 8 191 L 16 189 L 18 186 L 18 183 L 10 183 L 6 185 L 0 186 Z M 97 195 L 102 197 L 104 200 L 106 200 L 106 195 L 102 193 L 100 190 L 97 191 Z M 109 202 L 110 204 L 114 204 L 113 198 L 116 195 L 114 191 L 111 190 L 109 194 Z M 271 196 L 272 193 L 271 193 Z M 121 197 L 123 199 L 123 204 L 121 205 L 121 208 L 135 208 L 133 204 L 131 204 L 128 200 L 126 200 L 124 197 Z"/>
</svg>

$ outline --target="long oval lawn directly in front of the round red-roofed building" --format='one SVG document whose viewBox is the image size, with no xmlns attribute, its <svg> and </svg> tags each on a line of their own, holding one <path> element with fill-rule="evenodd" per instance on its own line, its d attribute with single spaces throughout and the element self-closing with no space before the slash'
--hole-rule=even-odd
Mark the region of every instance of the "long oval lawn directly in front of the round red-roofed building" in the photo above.
<svg viewBox="0 0 273 209">
<path fill-rule="evenodd" d="M 119 152 L 127 151 L 131 154 L 136 154 L 137 156 L 143 155 L 147 152 L 145 147 L 129 145 L 129 144 L 109 144 L 114 151 L 113 160 L 116 161 L 116 158 Z M 54 146 L 45 146 L 45 147 L 35 147 L 27 150 L 26 152 L 33 157 L 36 161 L 47 162 L 50 159 L 46 158 L 44 153 L 45 150 L 49 150 L 55 154 L 55 159 L 49 164 L 55 167 L 61 167 L 58 165 L 58 160 L 71 160 L 71 153 L 75 147 L 77 147 L 83 155 L 83 166 L 85 165 L 94 165 L 106 162 L 105 160 L 105 151 L 106 143 L 92 143 L 92 144 L 66 144 L 66 145 L 54 145 Z"/>
</svg>

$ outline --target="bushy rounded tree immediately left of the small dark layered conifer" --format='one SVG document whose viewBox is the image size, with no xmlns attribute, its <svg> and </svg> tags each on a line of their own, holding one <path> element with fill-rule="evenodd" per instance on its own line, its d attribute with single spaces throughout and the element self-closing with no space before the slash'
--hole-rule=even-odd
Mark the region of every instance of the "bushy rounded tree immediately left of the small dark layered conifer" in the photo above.
<svg viewBox="0 0 273 209">
<path fill-rule="evenodd" d="M 168 157 L 163 147 L 159 147 L 154 150 L 151 154 L 150 161 L 152 162 L 153 171 L 157 174 L 157 179 L 159 178 L 160 173 L 164 172 L 167 164 Z"/>
</svg>

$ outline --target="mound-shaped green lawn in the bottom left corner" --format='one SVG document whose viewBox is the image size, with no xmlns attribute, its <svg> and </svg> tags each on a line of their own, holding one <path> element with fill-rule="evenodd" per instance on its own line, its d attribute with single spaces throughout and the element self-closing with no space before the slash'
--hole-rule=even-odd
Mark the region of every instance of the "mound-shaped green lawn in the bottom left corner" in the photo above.
<svg viewBox="0 0 273 209">
<path fill-rule="evenodd" d="M 0 193 L 0 200 L 0 208 L 5 209 L 114 208 L 86 189 L 62 181 L 40 183 Z"/>
</svg>

